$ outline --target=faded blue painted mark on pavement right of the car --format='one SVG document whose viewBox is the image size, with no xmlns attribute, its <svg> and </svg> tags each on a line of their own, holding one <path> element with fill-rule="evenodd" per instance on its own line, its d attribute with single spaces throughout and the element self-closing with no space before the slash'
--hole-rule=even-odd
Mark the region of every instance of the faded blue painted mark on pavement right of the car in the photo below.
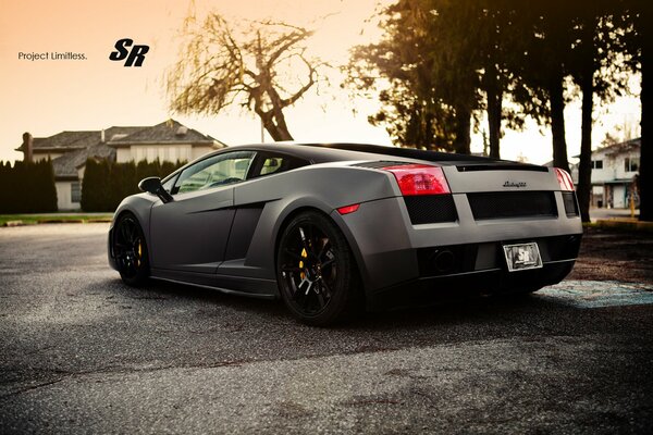
<svg viewBox="0 0 653 435">
<path fill-rule="evenodd" d="M 563 281 L 535 295 L 578 308 L 604 308 L 653 303 L 653 285 L 617 281 Z"/>
</svg>

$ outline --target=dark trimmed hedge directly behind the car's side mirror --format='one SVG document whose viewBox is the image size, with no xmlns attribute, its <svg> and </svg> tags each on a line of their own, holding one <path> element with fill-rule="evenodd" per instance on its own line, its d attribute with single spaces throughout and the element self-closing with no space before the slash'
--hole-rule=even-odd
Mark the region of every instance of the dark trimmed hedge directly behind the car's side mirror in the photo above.
<svg viewBox="0 0 653 435">
<path fill-rule="evenodd" d="M 88 159 L 82 183 L 82 210 L 86 212 L 114 211 L 123 198 L 137 194 L 138 182 L 148 176 L 163 178 L 184 165 L 184 162 L 151 163 L 140 161 L 115 163 Z"/>
</svg>

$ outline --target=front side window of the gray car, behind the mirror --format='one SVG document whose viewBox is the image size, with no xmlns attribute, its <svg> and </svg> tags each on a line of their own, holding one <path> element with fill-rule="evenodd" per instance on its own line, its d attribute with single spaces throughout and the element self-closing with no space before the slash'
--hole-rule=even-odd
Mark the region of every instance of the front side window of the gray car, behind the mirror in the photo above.
<svg viewBox="0 0 653 435">
<path fill-rule="evenodd" d="M 254 151 L 234 151 L 199 161 L 180 174 L 171 194 L 187 194 L 242 182 L 247 176 L 254 154 Z"/>
</svg>

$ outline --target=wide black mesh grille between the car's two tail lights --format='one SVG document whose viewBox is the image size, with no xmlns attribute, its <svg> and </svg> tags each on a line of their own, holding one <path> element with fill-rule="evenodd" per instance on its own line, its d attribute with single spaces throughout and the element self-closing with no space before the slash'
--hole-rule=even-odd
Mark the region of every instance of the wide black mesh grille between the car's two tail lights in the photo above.
<svg viewBox="0 0 653 435">
<path fill-rule="evenodd" d="M 505 217 L 557 216 L 553 191 L 467 194 L 477 221 Z"/>
</svg>

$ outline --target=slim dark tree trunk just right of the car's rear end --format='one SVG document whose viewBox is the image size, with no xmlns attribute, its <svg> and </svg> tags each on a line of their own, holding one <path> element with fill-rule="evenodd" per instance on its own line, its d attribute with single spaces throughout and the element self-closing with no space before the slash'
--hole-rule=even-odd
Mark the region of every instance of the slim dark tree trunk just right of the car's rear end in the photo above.
<svg viewBox="0 0 653 435">
<path fill-rule="evenodd" d="M 594 67 L 589 60 L 582 74 L 582 125 L 580 133 L 580 163 L 578 165 L 578 206 L 582 222 L 590 222 L 590 190 L 592 189 L 592 111 L 594 109 Z"/>
</svg>

